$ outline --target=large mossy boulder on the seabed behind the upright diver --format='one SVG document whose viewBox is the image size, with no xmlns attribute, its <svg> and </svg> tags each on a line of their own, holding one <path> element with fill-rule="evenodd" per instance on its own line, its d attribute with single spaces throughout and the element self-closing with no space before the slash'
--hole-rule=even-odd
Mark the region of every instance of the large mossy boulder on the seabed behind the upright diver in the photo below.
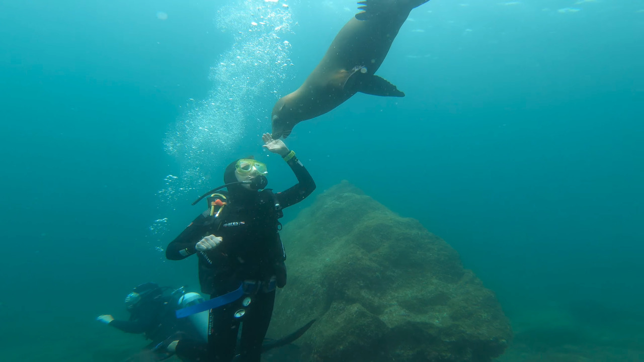
<svg viewBox="0 0 644 362">
<path fill-rule="evenodd" d="M 317 322 L 301 361 L 489 361 L 512 332 L 457 252 L 348 182 L 285 225 L 289 282 L 269 335 Z"/>
</svg>

